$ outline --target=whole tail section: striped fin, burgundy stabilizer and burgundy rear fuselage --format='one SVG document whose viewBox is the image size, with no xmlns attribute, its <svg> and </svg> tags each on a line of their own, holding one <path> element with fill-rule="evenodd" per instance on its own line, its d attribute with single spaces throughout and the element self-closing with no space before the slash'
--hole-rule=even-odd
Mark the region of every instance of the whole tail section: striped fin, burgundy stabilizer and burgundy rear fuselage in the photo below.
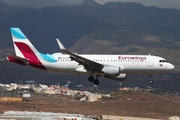
<svg viewBox="0 0 180 120">
<path fill-rule="evenodd" d="M 16 56 L 8 55 L 7 60 L 22 65 L 46 70 L 39 59 L 39 52 L 19 28 L 10 28 Z"/>
</svg>

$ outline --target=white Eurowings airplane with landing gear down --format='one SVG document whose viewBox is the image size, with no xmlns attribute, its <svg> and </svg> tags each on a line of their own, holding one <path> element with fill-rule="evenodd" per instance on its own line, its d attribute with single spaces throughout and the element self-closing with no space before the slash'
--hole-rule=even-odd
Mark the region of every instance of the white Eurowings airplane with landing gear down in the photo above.
<svg viewBox="0 0 180 120">
<path fill-rule="evenodd" d="M 166 59 L 150 54 L 77 54 L 67 50 L 59 39 L 56 39 L 57 43 L 65 54 L 43 54 L 36 50 L 19 28 L 10 28 L 10 31 L 15 55 L 7 53 L 8 61 L 51 72 L 89 74 L 88 80 L 95 85 L 99 85 L 100 76 L 125 81 L 127 74 L 147 74 L 149 83 L 153 84 L 153 74 L 163 74 L 175 68 Z"/>
</svg>

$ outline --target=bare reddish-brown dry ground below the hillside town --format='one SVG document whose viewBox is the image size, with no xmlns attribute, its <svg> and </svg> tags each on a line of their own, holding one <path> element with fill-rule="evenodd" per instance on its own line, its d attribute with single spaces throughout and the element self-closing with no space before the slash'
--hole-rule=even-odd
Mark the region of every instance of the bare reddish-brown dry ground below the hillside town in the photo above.
<svg viewBox="0 0 180 120">
<path fill-rule="evenodd" d="M 147 92 L 115 92 L 111 99 L 80 102 L 66 96 L 34 95 L 23 102 L 0 102 L 0 112 L 8 110 L 124 115 L 150 118 L 180 116 L 180 97 Z"/>
</svg>

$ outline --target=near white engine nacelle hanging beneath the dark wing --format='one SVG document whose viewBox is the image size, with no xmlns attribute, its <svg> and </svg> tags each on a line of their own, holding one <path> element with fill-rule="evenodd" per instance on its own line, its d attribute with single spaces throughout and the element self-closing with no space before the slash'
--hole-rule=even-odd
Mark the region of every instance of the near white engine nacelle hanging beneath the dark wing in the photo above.
<svg viewBox="0 0 180 120">
<path fill-rule="evenodd" d="M 118 76 L 120 74 L 120 67 L 117 67 L 117 66 L 104 66 L 102 71 L 107 76 Z"/>
</svg>

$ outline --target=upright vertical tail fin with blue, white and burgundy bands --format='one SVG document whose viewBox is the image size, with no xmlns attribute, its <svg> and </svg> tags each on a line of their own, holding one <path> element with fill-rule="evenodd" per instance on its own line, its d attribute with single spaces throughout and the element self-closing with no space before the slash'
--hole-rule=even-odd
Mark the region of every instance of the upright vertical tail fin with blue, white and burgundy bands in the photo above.
<svg viewBox="0 0 180 120">
<path fill-rule="evenodd" d="M 37 58 L 38 51 L 19 28 L 10 28 L 16 56 L 24 59 Z"/>
</svg>

